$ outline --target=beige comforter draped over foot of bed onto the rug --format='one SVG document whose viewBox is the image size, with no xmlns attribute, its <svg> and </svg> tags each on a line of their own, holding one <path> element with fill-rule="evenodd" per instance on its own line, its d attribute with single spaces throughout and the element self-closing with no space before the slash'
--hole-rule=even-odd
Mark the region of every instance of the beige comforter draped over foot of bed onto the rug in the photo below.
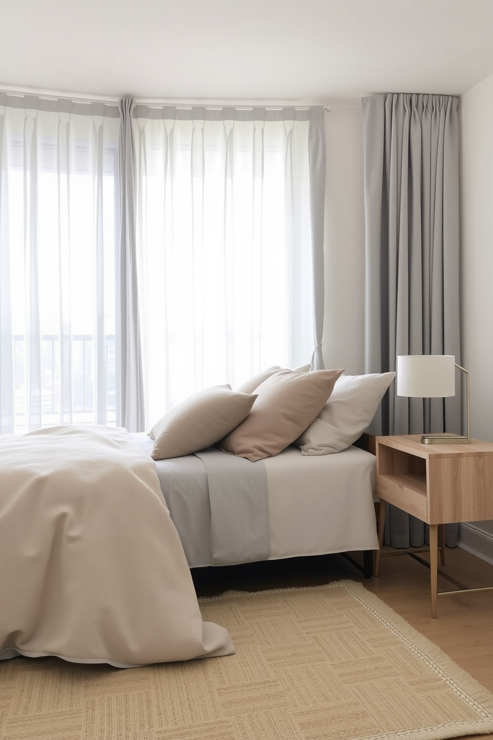
<svg viewBox="0 0 493 740">
<path fill-rule="evenodd" d="M 154 462 L 124 429 L 0 437 L 0 658 L 126 667 L 234 653 L 203 622 Z"/>
</svg>

